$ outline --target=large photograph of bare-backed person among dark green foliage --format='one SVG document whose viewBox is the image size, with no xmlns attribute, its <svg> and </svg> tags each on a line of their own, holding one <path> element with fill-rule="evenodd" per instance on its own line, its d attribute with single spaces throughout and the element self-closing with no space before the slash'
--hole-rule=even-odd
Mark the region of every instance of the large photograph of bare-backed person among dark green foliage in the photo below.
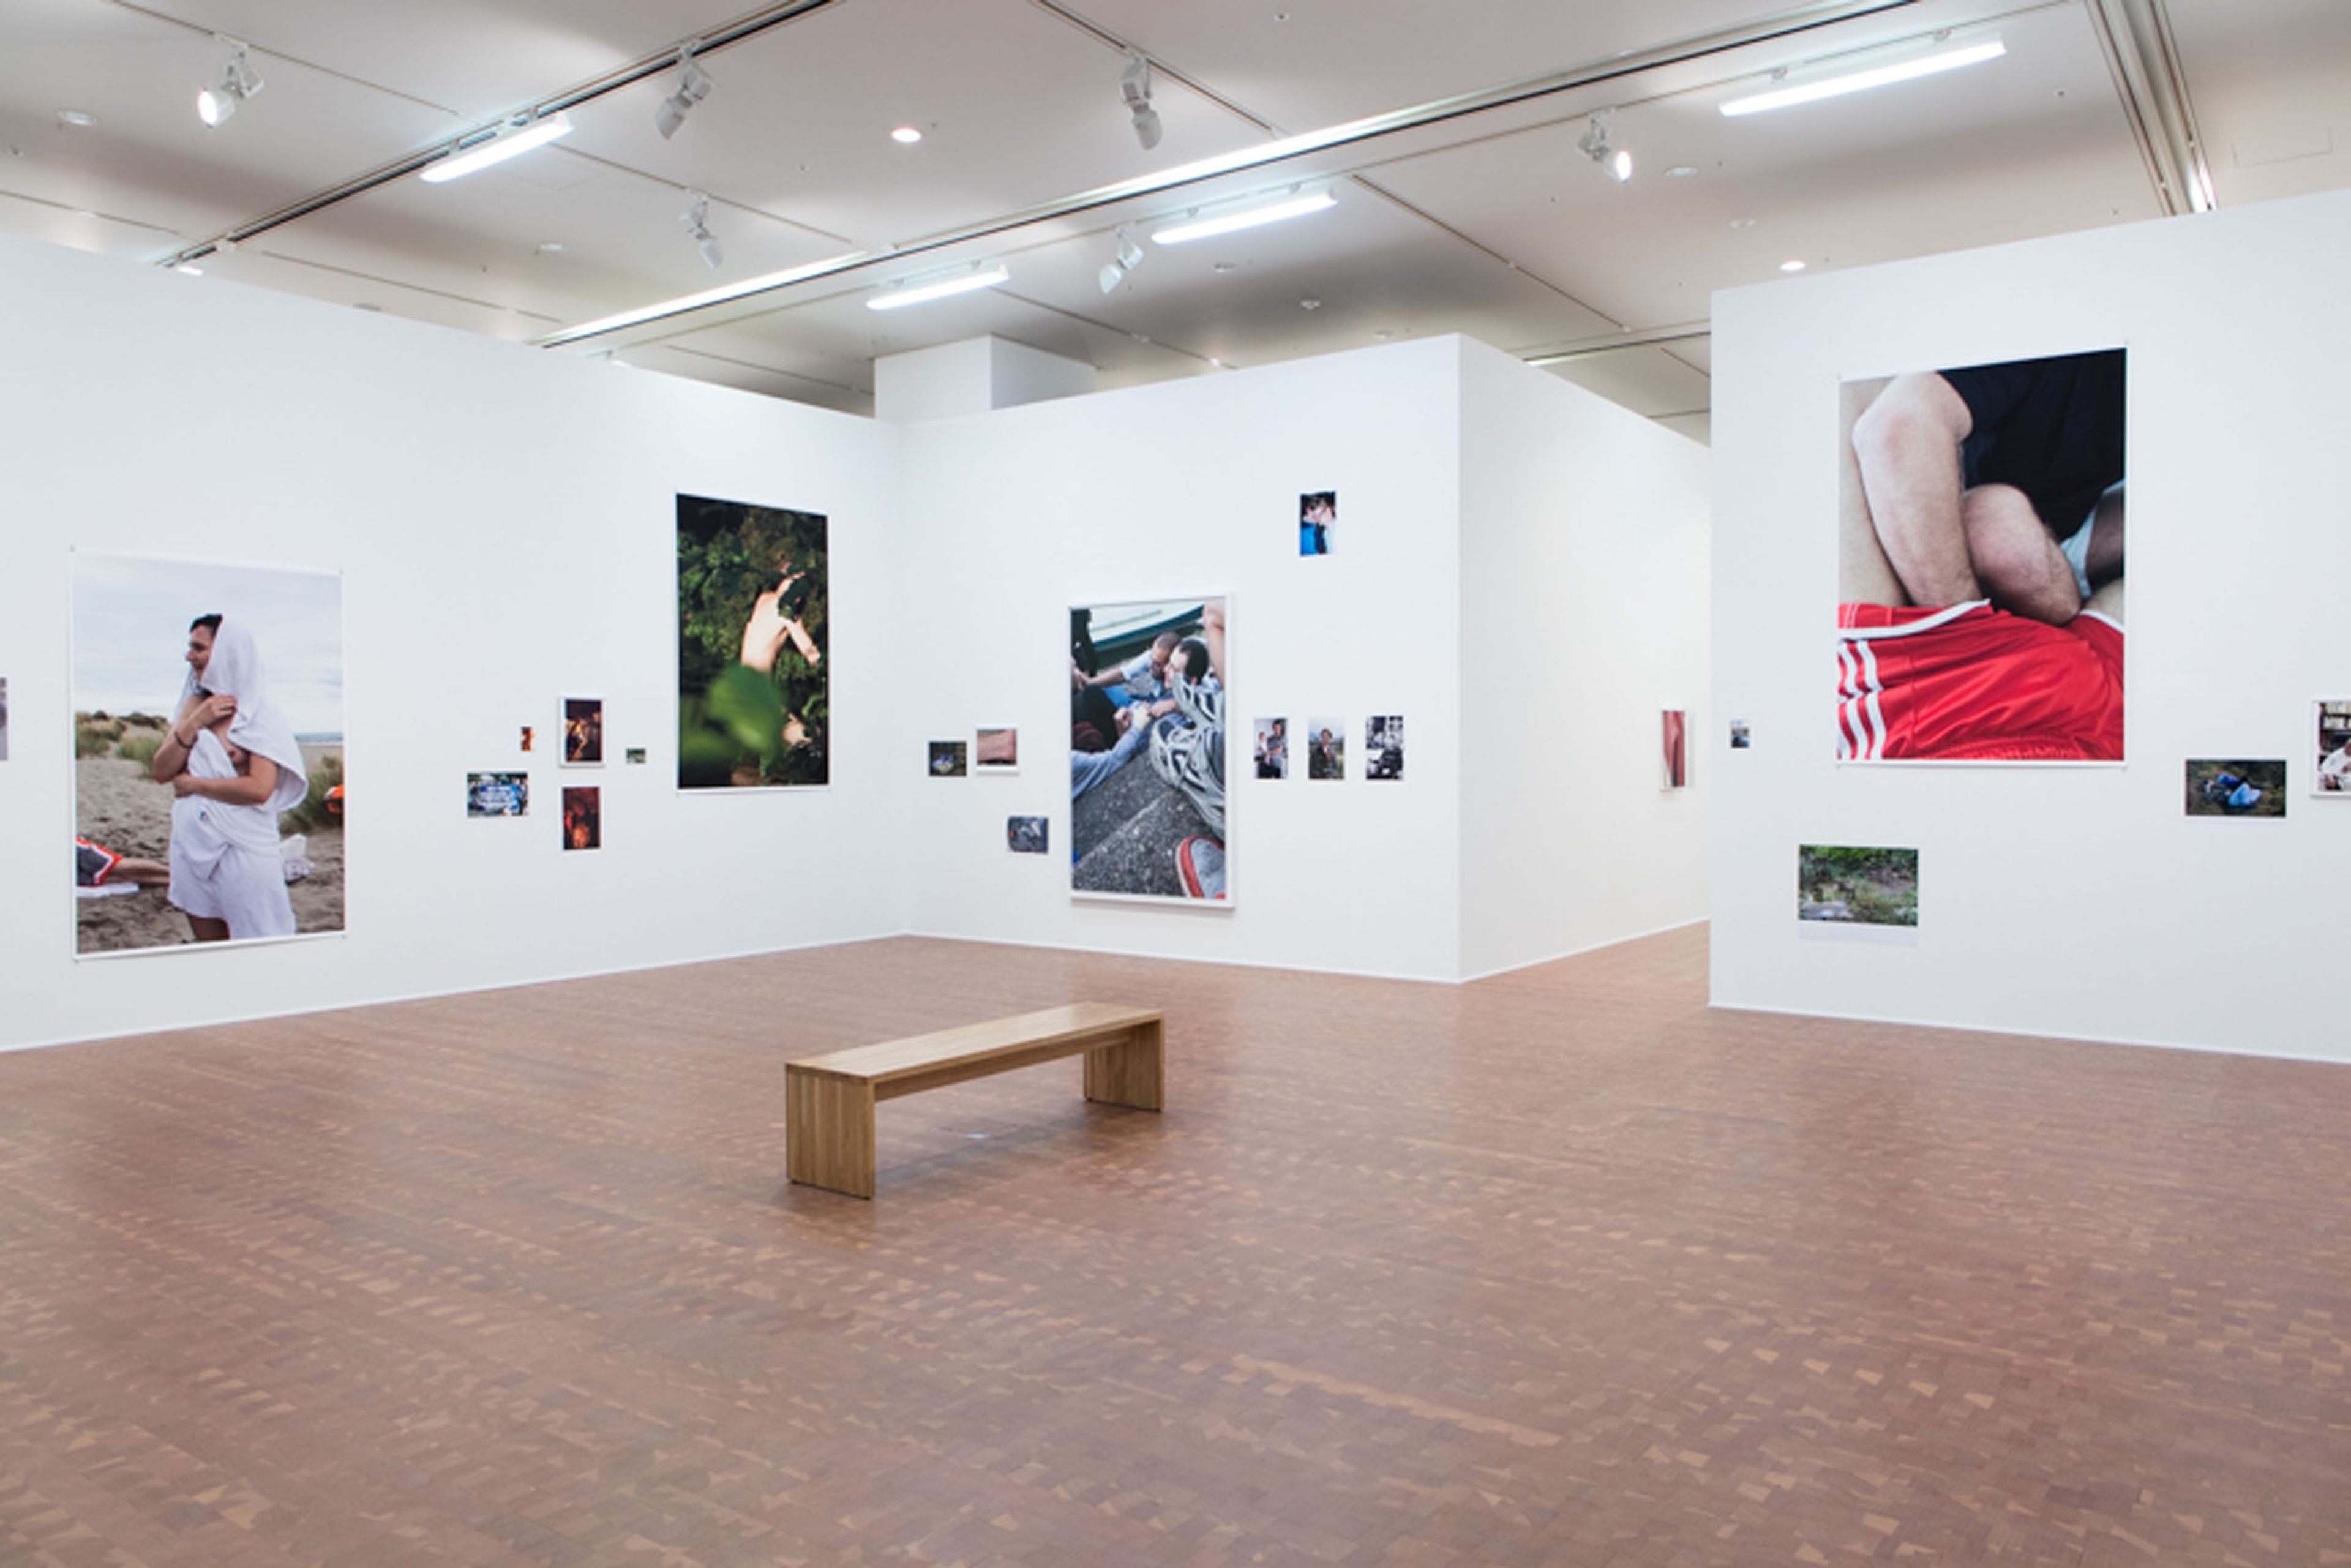
<svg viewBox="0 0 2351 1568">
<path fill-rule="evenodd" d="M 677 498 L 677 788 L 830 780 L 825 520 Z"/>
</svg>

